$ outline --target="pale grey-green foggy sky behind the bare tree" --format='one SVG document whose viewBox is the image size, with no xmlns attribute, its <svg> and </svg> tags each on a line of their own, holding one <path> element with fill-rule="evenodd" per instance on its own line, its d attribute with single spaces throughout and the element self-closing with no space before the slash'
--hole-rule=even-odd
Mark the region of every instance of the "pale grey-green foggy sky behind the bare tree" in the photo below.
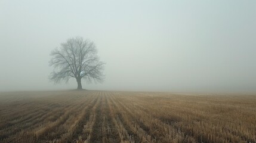
<svg viewBox="0 0 256 143">
<path fill-rule="evenodd" d="M 103 83 L 85 89 L 256 92 L 256 1 L 0 1 L 0 91 L 76 89 L 50 52 L 95 42 Z"/>
</svg>

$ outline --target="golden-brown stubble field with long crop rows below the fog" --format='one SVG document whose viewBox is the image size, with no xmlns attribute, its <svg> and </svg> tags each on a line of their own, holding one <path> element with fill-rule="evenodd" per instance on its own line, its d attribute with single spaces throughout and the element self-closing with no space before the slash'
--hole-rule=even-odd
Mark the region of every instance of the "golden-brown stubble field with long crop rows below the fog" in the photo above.
<svg viewBox="0 0 256 143">
<path fill-rule="evenodd" d="M 0 142 L 256 142 L 256 95 L 3 92 Z"/>
</svg>

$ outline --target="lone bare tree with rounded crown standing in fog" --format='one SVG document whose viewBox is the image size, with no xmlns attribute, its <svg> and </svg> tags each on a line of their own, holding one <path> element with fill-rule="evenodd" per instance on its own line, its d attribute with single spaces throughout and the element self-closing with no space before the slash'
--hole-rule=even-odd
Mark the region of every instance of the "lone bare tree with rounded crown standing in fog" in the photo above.
<svg viewBox="0 0 256 143">
<path fill-rule="evenodd" d="M 60 48 L 51 51 L 50 66 L 54 71 L 50 80 L 60 83 L 68 82 L 70 77 L 76 79 L 78 88 L 82 89 L 81 79 L 87 82 L 103 81 L 104 64 L 99 60 L 94 42 L 82 37 L 70 38 L 61 43 Z"/>
</svg>

